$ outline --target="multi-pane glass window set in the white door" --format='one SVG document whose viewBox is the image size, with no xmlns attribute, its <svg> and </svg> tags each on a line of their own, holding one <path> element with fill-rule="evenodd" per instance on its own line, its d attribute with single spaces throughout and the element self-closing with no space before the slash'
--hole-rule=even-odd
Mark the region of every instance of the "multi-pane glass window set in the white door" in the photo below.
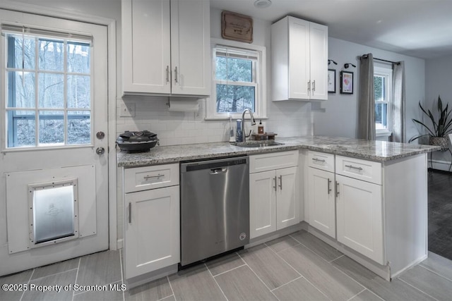
<svg viewBox="0 0 452 301">
<path fill-rule="evenodd" d="M 90 38 L 12 25 L 2 29 L 6 147 L 90 145 Z"/>
</svg>

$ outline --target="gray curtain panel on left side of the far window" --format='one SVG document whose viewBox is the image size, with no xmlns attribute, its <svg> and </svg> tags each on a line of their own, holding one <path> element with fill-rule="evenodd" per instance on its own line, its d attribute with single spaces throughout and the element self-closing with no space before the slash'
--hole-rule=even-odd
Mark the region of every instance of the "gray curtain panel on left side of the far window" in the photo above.
<svg viewBox="0 0 452 301">
<path fill-rule="evenodd" d="M 374 56 L 359 61 L 358 138 L 375 140 Z"/>
</svg>

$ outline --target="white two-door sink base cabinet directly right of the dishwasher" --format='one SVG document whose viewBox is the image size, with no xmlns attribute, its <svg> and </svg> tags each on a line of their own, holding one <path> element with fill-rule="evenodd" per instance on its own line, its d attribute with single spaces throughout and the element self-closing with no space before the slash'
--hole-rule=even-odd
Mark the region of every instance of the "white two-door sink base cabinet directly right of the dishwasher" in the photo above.
<svg viewBox="0 0 452 301">
<path fill-rule="evenodd" d="M 297 164 L 297 151 L 250 156 L 250 238 L 299 223 Z"/>
</svg>

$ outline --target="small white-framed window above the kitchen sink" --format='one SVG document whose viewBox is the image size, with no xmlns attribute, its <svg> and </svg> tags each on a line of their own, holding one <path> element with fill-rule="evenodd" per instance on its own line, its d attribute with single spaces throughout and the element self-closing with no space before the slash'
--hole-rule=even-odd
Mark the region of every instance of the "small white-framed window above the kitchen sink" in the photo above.
<svg viewBox="0 0 452 301">
<path fill-rule="evenodd" d="M 265 118 L 265 47 L 220 42 L 212 47 L 213 91 L 208 100 L 207 118 L 241 118 L 246 108 L 256 118 Z"/>
</svg>

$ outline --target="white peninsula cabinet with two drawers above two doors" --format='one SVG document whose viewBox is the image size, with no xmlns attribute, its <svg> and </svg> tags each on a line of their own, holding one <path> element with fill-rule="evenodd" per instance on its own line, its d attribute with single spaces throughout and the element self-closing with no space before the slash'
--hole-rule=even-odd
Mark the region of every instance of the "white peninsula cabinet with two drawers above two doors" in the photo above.
<svg viewBox="0 0 452 301">
<path fill-rule="evenodd" d="M 307 159 L 309 225 L 384 264 L 381 164 L 319 152 Z"/>
</svg>

